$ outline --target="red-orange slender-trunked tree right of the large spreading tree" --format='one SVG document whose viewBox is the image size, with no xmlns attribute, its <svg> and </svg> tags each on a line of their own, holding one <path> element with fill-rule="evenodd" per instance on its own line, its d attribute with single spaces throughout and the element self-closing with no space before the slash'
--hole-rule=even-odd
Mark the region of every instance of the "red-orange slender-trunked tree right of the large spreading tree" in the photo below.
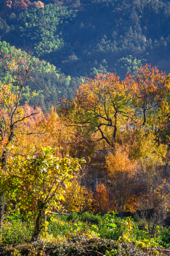
<svg viewBox="0 0 170 256">
<path fill-rule="evenodd" d="M 153 124 L 157 121 L 159 110 L 166 103 L 165 72 L 159 72 L 157 67 L 146 64 L 131 76 L 131 82 L 134 83 L 134 81 L 132 105 L 135 109 L 135 116 L 140 119 L 142 125 Z"/>
</svg>

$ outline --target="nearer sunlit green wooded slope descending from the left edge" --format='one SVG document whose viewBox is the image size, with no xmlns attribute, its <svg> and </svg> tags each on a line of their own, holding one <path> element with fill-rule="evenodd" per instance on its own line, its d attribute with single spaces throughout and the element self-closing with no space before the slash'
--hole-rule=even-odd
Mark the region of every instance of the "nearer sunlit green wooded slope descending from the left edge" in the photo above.
<svg viewBox="0 0 170 256">
<path fill-rule="evenodd" d="M 25 52 L 10 47 L 9 43 L 6 42 L 0 42 L 0 49 L 9 55 L 15 55 L 16 53 L 21 57 L 25 55 Z M 31 62 L 37 69 L 30 73 L 22 96 L 23 104 L 27 102 L 27 99 L 34 92 L 31 98 L 34 104 L 45 105 L 46 110 L 49 110 L 52 105 L 57 105 L 59 98 L 72 99 L 80 82 L 84 82 L 84 77 L 65 76 L 63 73 L 57 71 L 54 65 L 50 65 L 44 60 L 40 61 L 33 57 Z M 1 65 L 0 81 L 9 83 L 12 77 L 14 77 L 12 71 L 7 71 L 4 65 Z"/>
</svg>

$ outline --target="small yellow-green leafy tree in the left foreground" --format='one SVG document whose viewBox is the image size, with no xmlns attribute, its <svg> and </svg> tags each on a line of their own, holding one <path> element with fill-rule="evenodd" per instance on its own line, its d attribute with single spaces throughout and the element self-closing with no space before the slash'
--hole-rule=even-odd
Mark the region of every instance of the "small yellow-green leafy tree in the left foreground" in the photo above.
<svg viewBox="0 0 170 256">
<path fill-rule="evenodd" d="M 55 148 L 44 148 L 39 157 L 23 159 L 16 156 L 6 170 L 0 169 L 1 188 L 17 205 L 32 211 L 34 220 L 32 241 L 36 241 L 43 230 L 48 212 L 60 209 L 60 201 L 68 187 L 69 180 L 78 172 L 83 160 L 69 156 L 56 157 Z M 30 230 L 29 225 L 27 225 Z"/>
</svg>

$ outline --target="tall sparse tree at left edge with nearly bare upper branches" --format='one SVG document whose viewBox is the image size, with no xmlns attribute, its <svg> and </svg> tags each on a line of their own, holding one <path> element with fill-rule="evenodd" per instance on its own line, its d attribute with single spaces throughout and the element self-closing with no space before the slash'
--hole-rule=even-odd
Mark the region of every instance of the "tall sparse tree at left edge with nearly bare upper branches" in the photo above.
<svg viewBox="0 0 170 256">
<path fill-rule="evenodd" d="M 25 57 L 20 57 L 17 54 L 15 57 L 12 55 L 6 56 L 8 60 L 8 67 L 15 73 L 15 90 L 12 92 L 12 84 L 0 84 L 0 143 L 1 143 L 1 157 L 0 163 L 3 169 L 6 168 L 8 159 L 10 157 L 12 142 L 17 141 L 19 134 L 25 134 L 22 131 L 22 126 L 28 118 L 35 116 L 41 112 L 37 107 L 32 108 L 28 112 L 22 106 L 19 106 L 22 99 L 22 92 L 26 86 L 26 82 L 30 72 L 33 71 L 31 66 L 31 54 L 25 53 Z M 26 134 L 31 135 L 36 133 L 36 129 L 44 119 L 41 115 L 36 127 L 30 127 Z M 0 194 L 0 228 L 2 225 L 3 211 L 4 211 L 4 194 Z"/>
</svg>

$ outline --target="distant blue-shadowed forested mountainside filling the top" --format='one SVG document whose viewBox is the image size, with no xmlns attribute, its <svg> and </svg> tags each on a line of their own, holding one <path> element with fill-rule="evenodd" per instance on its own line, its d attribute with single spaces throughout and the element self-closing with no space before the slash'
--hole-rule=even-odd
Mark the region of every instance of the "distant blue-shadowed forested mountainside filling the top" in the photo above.
<svg viewBox="0 0 170 256">
<path fill-rule="evenodd" d="M 81 80 L 77 77 L 94 77 L 100 70 L 123 79 L 126 72 L 151 63 L 169 73 L 169 1 L 1 0 L 0 15 L 1 41 L 30 47 L 36 58 L 62 73 L 60 83 L 54 72 L 44 80 L 48 89 L 52 90 L 51 83 L 65 88 L 59 89 L 63 92 L 55 96 L 57 100 L 73 97 Z M 39 76 L 42 81 L 42 72 Z M 70 89 L 63 83 L 65 76 L 73 77 Z"/>
</svg>

